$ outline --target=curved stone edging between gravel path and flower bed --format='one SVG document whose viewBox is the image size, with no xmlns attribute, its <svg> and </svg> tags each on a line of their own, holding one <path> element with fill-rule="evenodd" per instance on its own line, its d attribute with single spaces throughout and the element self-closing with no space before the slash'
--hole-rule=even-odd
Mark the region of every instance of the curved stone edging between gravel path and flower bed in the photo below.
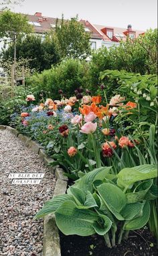
<svg viewBox="0 0 158 256">
<path fill-rule="evenodd" d="M 65 194 L 68 177 L 64 176 L 64 171 L 59 166 L 52 167 L 49 166 L 50 163 L 54 162 L 53 159 L 48 157 L 40 144 L 31 140 L 27 136 L 20 134 L 16 129 L 10 126 L 0 125 L 0 130 L 9 130 L 12 134 L 15 134 L 19 140 L 21 140 L 27 148 L 31 149 L 34 153 L 40 155 L 45 165 L 48 165 L 48 169 L 53 171 L 56 175 L 56 186 L 54 189 L 54 196 L 59 194 Z M 44 256 L 61 256 L 60 251 L 60 236 L 58 232 L 58 227 L 56 226 L 56 220 L 54 214 L 48 214 L 44 217 L 44 245 L 43 245 L 43 255 Z"/>
</svg>

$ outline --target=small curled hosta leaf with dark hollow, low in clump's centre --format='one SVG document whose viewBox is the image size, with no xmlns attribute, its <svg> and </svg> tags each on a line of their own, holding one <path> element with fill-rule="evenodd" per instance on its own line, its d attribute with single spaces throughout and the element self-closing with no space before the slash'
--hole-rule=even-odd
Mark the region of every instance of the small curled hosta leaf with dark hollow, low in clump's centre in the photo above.
<svg viewBox="0 0 158 256">
<path fill-rule="evenodd" d="M 105 215 L 99 215 L 98 221 L 94 222 L 93 227 L 97 234 L 103 236 L 110 230 L 112 221 Z"/>
</svg>

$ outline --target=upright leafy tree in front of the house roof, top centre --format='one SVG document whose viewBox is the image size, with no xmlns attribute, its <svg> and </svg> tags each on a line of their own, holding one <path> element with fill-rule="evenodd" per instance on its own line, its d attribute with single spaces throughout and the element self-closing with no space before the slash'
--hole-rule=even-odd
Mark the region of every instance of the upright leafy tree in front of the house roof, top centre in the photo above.
<svg viewBox="0 0 158 256">
<path fill-rule="evenodd" d="M 90 34 L 84 31 L 84 27 L 77 18 L 62 22 L 59 25 L 58 19 L 56 29 L 52 29 L 49 36 L 58 42 L 62 58 L 82 58 L 90 55 Z"/>
</svg>

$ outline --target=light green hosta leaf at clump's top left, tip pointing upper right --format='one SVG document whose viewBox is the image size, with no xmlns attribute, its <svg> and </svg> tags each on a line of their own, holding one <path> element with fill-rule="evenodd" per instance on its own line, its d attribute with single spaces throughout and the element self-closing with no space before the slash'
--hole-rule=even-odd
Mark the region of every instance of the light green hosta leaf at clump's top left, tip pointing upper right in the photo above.
<svg viewBox="0 0 158 256">
<path fill-rule="evenodd" d="M 96 179 L 104 179 L 110 169 L 111 167 L 100 167 L 94 169 L 93 171 L 86 173 L 84 177 L 78 179 L 78 181 L 74 185 L 72 185 L 72 187 L 78 187 L 80 189 L 83 189 L 84 191 L 90 191 L 91 193 L 93 193 L 94 187 L 92 183 Z"/>
</svg>

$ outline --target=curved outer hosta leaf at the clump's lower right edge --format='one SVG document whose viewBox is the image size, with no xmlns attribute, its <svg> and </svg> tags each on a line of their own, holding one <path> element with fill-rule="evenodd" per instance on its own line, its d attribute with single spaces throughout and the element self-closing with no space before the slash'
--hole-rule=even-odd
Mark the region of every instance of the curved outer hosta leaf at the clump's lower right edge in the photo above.
<svg viewBox="0 0 158 256">
<path fill-rule="evenodd" d="M 147 224 L 150 216 L 150 205 L 149 202 L 145 203 L 145 206 L 143 207 L 143 214 L 142 216 L 135 218 L 133 220 L 129 220 L 125 223 L 124 229 L 125 230 L 136 230 L 139 228 L 142 228 Z"/>
</svg>

